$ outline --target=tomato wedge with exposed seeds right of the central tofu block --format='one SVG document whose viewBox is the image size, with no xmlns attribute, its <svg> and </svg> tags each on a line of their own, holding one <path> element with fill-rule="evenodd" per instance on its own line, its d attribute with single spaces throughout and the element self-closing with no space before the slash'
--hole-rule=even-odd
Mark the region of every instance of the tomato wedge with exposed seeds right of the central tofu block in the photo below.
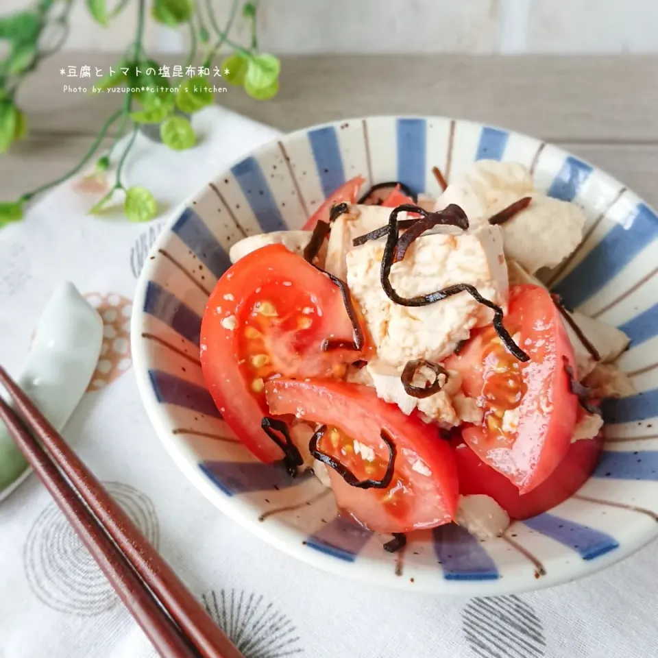
<svg viewBox="0 0 658 658">
<path fill-rule="evenodd" d="M 530 361 L 509 354 L 493 328 L 476 334 L 446 367 L 463 376 L 464 390 L 485 409 L 483 427 L 467 428 L 464 441 L 521 493 L 555 470 L 569 449 L 578 398 L 571 393 L 564 359 L 574 353 L 559 310 L 539 286 L 513 286 L 505 327 Z"/>
</svg>

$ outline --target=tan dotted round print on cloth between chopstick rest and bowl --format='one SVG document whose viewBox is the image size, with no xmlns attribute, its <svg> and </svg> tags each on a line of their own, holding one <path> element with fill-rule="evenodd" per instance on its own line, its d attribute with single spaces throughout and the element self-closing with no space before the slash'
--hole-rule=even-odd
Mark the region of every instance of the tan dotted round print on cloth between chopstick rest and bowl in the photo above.
<svg viewBox="0 0 658 658">
<path fill-rule="evenodd" d="M 98 391 L 130 369 L 132 302 L 118 293 L 86 293 L 84 298 L 103 318 L 101 356 L 87 391 Z"/>
</svg>

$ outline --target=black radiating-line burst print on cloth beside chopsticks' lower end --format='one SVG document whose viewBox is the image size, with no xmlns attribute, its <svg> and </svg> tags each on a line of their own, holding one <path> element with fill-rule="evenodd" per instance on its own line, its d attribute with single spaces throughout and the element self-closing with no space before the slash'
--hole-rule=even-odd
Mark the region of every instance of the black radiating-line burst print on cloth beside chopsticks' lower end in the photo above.
<svg viewBox="0 0 658 658">
<path fill-rule="evenodd" d="M 265 602 L 262 594 L 211 589 L 202 601 L 215 623 L 245 658 L 301 655 L 300 637 L 292 620 Z"/>
</svg>

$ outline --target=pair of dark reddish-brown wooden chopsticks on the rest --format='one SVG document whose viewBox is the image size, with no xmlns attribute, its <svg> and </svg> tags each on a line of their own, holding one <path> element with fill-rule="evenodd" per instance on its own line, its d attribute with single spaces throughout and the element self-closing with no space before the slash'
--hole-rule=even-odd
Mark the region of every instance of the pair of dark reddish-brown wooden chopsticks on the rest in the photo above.
<svg viewBox="0 0 658 658">
<path fill-rule="evenodd" d="M 0 419 L 160 656 L 244 658 L 2 367 L 0 383 L 21 414 L 0 396 Z"/>
</svg>

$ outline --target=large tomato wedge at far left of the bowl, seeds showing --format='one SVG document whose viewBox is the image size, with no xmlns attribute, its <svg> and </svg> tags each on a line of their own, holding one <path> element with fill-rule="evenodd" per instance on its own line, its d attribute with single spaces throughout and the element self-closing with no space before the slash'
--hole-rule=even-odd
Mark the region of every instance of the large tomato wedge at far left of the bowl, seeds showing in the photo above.
<svg viewBox="0 0 658 658">
<path fill-rule="evenodd" d="M 260 428 L 263 392 L 273 377 L 343 376 L 363 352 L 324 352 L 324 339 L 352 341 L 339 288 L 283 245 L 257 249 L 232 265 L 210 295 L 201 326 L 208 390 L 231 429 L 263 461 L 282 450 Z"/>
</svg>

